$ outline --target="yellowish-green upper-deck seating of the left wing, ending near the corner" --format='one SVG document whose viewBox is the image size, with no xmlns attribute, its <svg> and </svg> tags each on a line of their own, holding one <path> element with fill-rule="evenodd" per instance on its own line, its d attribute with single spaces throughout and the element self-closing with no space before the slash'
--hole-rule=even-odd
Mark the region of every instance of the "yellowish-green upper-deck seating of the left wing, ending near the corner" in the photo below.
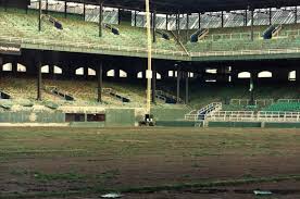
<svg viewBox="0 0 300 199">
<path fill-rule="evenodd" d="M 50 23 L 42 23 L 42 30 L 38 32 L 38 13 L 29 10 L 8 9 L 8 12 L 0 8 L 0 34 L 1 37 L 22 37 L 29 39 L 42 39 L 53 41 L 86 42 L 101 46 L 135 47 L 146 48 L 147 37 L 145 28 L 133 27 L 130 24 L 114 26 L 120 35 L 112 33 L 110 28 L 103 28 L 103 36 L 99 38 L 97 23 L 84 22 L 82 16 L 67 16 L 62 13 L 49 13 L 63 24 L 63 29 L 55 28 Z M 153 49 L 180 51 L 174 39 L 166 40 L 158 38 Z"/>
</svg>

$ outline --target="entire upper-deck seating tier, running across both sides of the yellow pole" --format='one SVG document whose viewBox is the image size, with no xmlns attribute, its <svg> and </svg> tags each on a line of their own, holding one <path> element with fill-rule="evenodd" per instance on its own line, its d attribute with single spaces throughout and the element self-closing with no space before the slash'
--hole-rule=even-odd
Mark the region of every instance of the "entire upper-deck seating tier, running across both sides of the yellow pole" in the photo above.
<svg viewBox="0 0 300 199">
<path fill-rule="evenodd" d="M 25 38 L 24 42 L 32 42 L 30 39 L 41 39 L 46 41 L 82 42 L 90 45 L 101 45 L 102 47 L 147 47 L 146 29 L 133 27 L 130 24 L 111 26 L 104 24 L 103 36 L 99 38 L 97 23 L 84 22 L 79 15 L 68 15 L 64 18 L 62 13 L 49 13 L 48 18 L 55 18 L 55 22 L 63 24 L 63 29 L 58 29 L 51 23 L 42 23 L 42 32 L 38 32 L 37 11 L 29 10 L 25 14 L 24 10 L 8 9 L 8 12 L 0 8 L 0 34 L 1 37 Z M 272 39 L 263 39 L 265 29 L 275 27 L 276 34 Z M 299 24 L 254 26 L 254 41 L 251 41 L 251 27 L 225 27 L 210 28 L 205 30 L 203 37 L 198 42 L 191 42 L 191 35 L 201 34 L 201 30 L 190 29 L 180 32 L 180 40 L 187 41 L 179 45 L 173 32 L 158 30 L 157 42 L 153 49 L 168 50 L 176 52 L 210 52 L 210 51 L 241 51 L 262 49 L 290 49 L 300 47 Z M 274 29 L 273 29 L 274 30 Z M 273 33 L 272 30 L 272 33 Z M 199 35 L 198 35 L 199 36 Z M 167 39 L 170 38 L 170 40 Z M 198 38 L 198 37 L 195 37 Z M 196 39 L 197 40 L 197 39 Z M 196 41 L 193 39 L 193 41 Z"/>
</svg>

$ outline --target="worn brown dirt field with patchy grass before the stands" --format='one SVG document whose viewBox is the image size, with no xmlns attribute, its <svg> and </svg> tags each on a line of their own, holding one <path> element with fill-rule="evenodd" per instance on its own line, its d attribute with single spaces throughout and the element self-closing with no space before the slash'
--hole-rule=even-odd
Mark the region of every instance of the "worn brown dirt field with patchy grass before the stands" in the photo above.
<svg viewBox="0 0 300 199">
<path fill-rule="evenodd" d="M 0 198 L 300 198 L 300 130 L 0 128 Z"/>
</svg>

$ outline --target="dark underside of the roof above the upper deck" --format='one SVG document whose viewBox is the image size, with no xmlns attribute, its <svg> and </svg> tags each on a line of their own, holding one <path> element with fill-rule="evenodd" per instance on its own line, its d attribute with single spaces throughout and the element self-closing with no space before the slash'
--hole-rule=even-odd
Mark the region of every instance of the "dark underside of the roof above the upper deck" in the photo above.
<svg viewBox="0 0 300 199">
<path fill-rule="evenodd" d="M 67 0 L 98 4 L 99 0 Z M 295 7 L 299 0 L 150 0 L 151 10 L 161 13 L 196 13 L 214 11 Z M 104 7 L 145 10 L 145 0 L 104 0 Z"/>
</svg>

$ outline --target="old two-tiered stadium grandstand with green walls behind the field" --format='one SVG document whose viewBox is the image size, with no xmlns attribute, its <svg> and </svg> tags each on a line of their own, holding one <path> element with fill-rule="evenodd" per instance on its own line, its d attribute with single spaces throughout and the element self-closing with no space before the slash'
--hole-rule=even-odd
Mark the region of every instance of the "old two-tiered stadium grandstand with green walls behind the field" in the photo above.
<svg viewBox="0 0 300 199">
<path fill-rule="evenodd" d="M 298 4 L 0 0 L 0 124 L 299 127 Z"/>
</svg>

